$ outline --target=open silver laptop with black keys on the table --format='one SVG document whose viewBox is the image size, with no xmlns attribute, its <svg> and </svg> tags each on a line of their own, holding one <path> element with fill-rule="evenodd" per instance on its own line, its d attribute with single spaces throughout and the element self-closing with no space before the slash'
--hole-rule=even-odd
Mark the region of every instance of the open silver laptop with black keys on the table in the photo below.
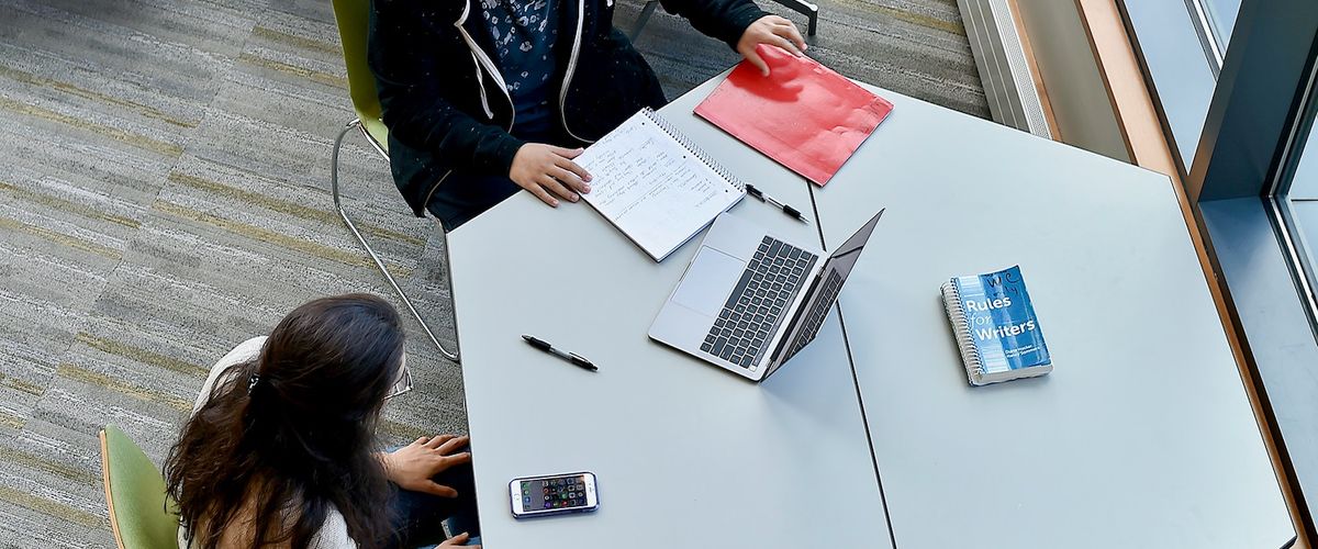
<svg viewBox="0 0 1318 549">
<path fill-rule="evenodd" d="M 882 216 L 832 255 L 718 216 L 650 337 L 751 380 L 768 378 L 815 340 Z"/>
</svg>

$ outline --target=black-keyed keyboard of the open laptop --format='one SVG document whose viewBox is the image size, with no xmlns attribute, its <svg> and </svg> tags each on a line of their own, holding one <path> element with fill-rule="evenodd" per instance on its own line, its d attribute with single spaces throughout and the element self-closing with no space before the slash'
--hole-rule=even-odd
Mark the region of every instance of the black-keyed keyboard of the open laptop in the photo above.
<svg viewBox="0 0 1318 549">
<path fill-rule="evenodd" d="M 764 237 L 700 350 L 741 367 L 755 363 L 817 259 L 800 248 Z"/>
</svg>

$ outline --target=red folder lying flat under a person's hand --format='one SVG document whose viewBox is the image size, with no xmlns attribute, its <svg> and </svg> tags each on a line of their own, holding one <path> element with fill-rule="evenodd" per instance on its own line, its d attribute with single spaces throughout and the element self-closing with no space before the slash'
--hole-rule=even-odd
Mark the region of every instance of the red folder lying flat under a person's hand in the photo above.
<svg viewBox="0 0 1318 549">
<path fill-rule="evenodd" d="M 757 51 L 770 75 L 742 61 L 696 115 L 822 187 L 892 104 L 808 57 Z"/>
</svg>

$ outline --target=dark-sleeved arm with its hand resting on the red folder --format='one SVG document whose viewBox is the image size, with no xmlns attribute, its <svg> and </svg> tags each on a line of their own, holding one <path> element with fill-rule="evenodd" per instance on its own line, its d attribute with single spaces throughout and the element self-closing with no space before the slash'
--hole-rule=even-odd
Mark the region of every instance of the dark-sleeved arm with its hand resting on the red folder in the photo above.
<svg viewBox="0 0 1318 549">
<path fill-rule="evenodd" d="M 805 38 L 791 21 L 764 13 L 751 0 L 659 0 L 664 9 L 691 21 L 691 26 L 726 42 L 768 76 L 768 63 L 755 53 L 767 43 L 795 55 L 805 51 Z"/>
</svg>

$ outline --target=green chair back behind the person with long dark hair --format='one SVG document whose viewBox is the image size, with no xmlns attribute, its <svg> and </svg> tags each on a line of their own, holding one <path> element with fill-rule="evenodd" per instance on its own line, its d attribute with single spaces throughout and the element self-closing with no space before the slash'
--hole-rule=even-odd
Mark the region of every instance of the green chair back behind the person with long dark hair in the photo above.
<svg viewBox="0 0 1318 549">
<path fill-rule="evenodd" d="M 100 469 L 120 549 L 178 548 L 177 507 L 165 494 L 165 477 L 115 425 L 100 432 Z"/>
</svg>

